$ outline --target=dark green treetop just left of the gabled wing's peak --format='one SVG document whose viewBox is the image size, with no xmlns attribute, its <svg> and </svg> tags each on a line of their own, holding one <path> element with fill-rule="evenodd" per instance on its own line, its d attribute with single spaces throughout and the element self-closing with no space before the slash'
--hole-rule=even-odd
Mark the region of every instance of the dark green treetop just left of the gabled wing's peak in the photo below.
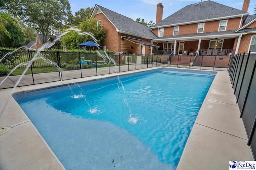
<svg viewBox="0 0 256 170">
<path fill-rule="evenodd" d="M 75 13 L 75 16 L 72 19 L 72 25 L 79 25 L 80 22 L 90 18 L 93 8 L 81 8 L 78 12 Z"/>
</svg>

